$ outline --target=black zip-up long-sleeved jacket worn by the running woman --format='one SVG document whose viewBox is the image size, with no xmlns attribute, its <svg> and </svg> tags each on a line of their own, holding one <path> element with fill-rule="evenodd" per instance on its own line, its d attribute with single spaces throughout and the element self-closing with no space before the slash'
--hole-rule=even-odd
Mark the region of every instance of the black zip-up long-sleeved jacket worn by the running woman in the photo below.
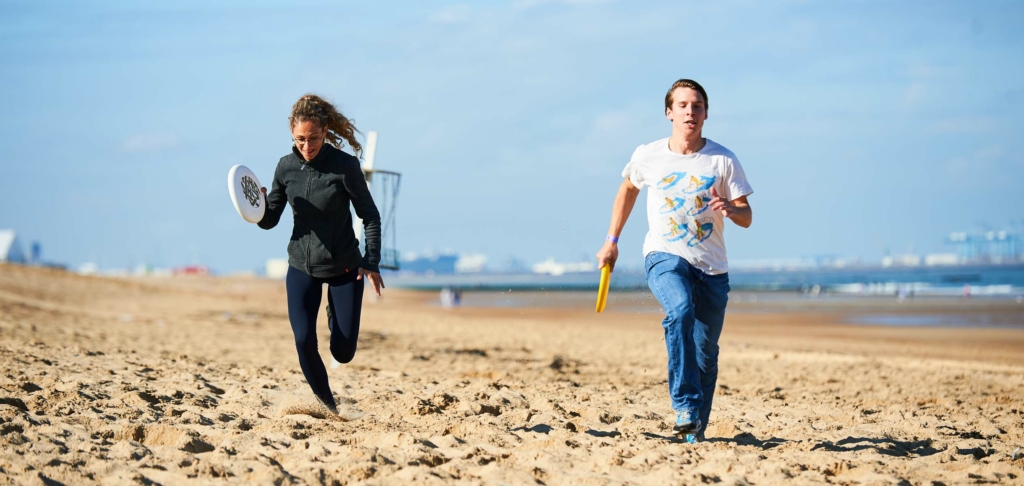
<svg viewBox="0 0 1024 486">
<path fill-rule="evenodd" d="M 356 267 L 380 271 L 381 217 L 358 159 L 325 143 L 319 153 L 306 162 L 292 147 L 278 163 L 259 227 L 276 226 L 286 202 L 292 205 L 295 219 L 288 242 L 289 265 L 318 278 Z M 362 219 L 366 256 L 359 254 L 359 241 L 352 230 L 349 202 Z"/>
</svg>

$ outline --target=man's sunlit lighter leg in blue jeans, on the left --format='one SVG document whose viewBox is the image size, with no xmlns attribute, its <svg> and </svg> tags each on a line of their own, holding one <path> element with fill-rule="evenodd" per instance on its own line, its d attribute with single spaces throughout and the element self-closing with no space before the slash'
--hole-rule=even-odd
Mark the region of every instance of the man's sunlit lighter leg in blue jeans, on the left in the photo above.
<svg viewBox="0 0 1024 486">
<path fill-rule="evenodd" d="M 697 415 L 702 398 L 693 342 L 694 314 L 688 267 L 685 260 L 668 253 L 654 252 L 646 259 L 647 284 L 666 314 L 662 326 L 669 352 L 672 408 Z"/>
</svg>

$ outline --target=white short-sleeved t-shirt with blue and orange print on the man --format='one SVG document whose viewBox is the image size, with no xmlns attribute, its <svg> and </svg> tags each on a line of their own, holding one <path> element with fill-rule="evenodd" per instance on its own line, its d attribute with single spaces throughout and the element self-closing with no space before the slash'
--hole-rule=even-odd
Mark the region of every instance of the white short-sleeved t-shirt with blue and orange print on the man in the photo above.
<svg viewBox="0 0 1024 486">
<path fill-rule="evenodd" d="M 651 252 L 678 255 L 709 275 L 729 271 L 725 224 L 712 211 L 712 187 L 728 201 L 754 192 L 743 168 L 728 148 L 706 139 L 703 148 L 683 156 L 669 149 L 669 139 L 640 145 L 623 177 L 647 191 L 647 237 Z"/>
</svg>

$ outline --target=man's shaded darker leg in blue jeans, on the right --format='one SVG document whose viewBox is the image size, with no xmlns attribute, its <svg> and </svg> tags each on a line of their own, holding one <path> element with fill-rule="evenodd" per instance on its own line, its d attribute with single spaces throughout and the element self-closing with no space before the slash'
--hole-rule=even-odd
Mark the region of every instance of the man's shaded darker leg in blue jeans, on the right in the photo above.
<svg viewBox="0 0 1024 486">
<path fill-rule="evenodd" d="M 718 339 L 722 336 L 725 306 L 729 302 L 729 275 L 706 275 L 696 268 L 693 271 L 700 273 L 696 275 L 693 285 L 693 310 L 696 317 L 693 341 L 697 348 L 697 367 L 700 369 L 700 391 L 703 397 L 700 423 L 707 428 L 715 398 L 715 386 L 718 384 Z"/>
</svg>

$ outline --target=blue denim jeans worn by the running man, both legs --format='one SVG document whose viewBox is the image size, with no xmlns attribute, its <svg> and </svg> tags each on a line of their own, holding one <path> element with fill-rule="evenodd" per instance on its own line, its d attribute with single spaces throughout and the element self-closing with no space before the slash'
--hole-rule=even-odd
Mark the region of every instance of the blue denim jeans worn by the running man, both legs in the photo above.
<svg viewBox="0 0 1024 486">
<path fill-rule="evenodd" d="M 729 302 L 729 274 L 709 275 L 684 258 L 652 252 L 647 284 L 665 308 L 669 396 L 676 411 L 697 412 L 708 426 L 718 382 L 718 339 Z"/>
</svg>

